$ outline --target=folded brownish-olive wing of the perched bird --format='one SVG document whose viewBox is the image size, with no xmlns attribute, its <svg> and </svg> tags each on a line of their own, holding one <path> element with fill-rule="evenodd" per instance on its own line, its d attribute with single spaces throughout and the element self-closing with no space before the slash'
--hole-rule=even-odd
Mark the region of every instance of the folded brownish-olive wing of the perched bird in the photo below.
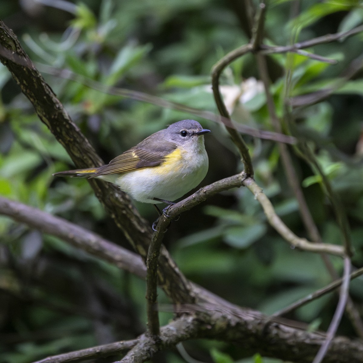
<svg viewBox="0 0 363 363">
<path fill-rule="evenodd" d="M 156 134 L 159 132 L 156 132 Z M 159 137 L 155 137 L 155 134 L 151 136 L 135 147 L 132 147 L 130 150 L 117 156 L 111 160 L 109 164 L 98 168 L 97 173 L 91 178 L 100 175 L 126 173 L 128 171 L 152 167 L 162 163 L 164 157 L 175 150 L 176 144 L 163 139 L 160 140 Z M 162 136 L 162 134 L 158 136 Z"/>
</svg>

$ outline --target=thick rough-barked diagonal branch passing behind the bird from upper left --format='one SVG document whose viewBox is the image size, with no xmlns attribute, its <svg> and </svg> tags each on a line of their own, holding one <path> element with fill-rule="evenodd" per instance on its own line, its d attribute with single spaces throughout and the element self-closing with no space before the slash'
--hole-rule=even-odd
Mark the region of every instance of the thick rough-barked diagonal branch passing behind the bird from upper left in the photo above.
<svg viewBox="0 0 363 363">
<path fill-rule="evenodd" d="M 67 111 L 41 74 L 33 66 L 15 34 L 1 20 L 0 50 L 0 61 L 7 66 L 23 93 L 34 106 L 41 121 L 48 126 L 49 130 L 64 146 L 76 167 L 101 166 L 102 160 L 72 122 Z M 7 55 L 10 53 L 11 57 L 8 57 Z M 146 221 L 140 217 L 130 198 L 114 184 L 97 179 L 89 179 L 89 183 L 127 240 L 146 260 L 152 231 Z M 176 267 L 166 249 L 161 251 L 159 271 L 160 284 L 175 303 L 193 301 L 190 294 L 191 286 Z"/>
</svg>

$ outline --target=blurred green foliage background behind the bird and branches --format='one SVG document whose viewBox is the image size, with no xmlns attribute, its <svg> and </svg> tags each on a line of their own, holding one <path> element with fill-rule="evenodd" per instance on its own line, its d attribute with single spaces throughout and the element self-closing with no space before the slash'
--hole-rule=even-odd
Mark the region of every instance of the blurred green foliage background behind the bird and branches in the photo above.
<svg viewBox="0 0 363 363">
<path fill-rule="evenodd" d="M 215 113 L 211 67 L 248 41 L 243 2 L 241 7 L 233 1 L 216 0 L 46 3 L 48 6 L 33 0 L 3 0 L 0 7 L 1 19 L 14 30 L 40 70 L 49 70 L 49 66 L 67 69 L 102 85 L 157 94 Z M 276 0 L 267 13 L 266 42 L 290 44 L 350 30 L 362 22 L 358 0 Z M 286 97 L 333 87 L 329 97 L 298 107 L 293 117 L 343 200 L 355 248 L 353 263 L 361 267 L 363 79 L 359 69 L 350 79 L 344 78 L 344 71 L 354 60 L 362 62 L 362 34 L 308 50 L 338 63 L 274 54 L 268 64 L 271 90 L 281 117 Z M 105 162 L 167 124 L 195 118 L 212 130 L 205 138 L 210 167 L 203 184 L 241 170 L 237 152 L 220 125 L 43 74 Z M 258 77 L 251 55 L 233 62 L 221 78 L 225 101 L 236 122 L 272 130 L 263 87 L 251 77 Z M 0 194 L 62 216 L 127 247 L 86 180 L 54 180 L 53 172 L 72 168 L 70 158 L 39 121 L 4 66 L 0 66 L 0 89 Z M 299 236 L 306 236 L 276 144 L 245 139 L 257 182 L 284 222 Z M 321 176 L 290 150 L 323 241 L 341 244 Z M 156 218 L 151 205 L 137 207 L 150 223 Z M 0 217 L 0 236 L 0 362 L 27 363 L 129 339 L 145 329 L 143 281 L 5 217 Z M 192 281 L 267 314 L 330 282 L 320 256 L 290 249 L 243 188 L 223 192 L 182 215 L 164 241 Z M 331 261 L 340 272 L 341 261 Z M 351 294 L 361 310 L 362 291 L 362 279 L 357 279 Z M 160 300 L 169 303 L 162 291 Z M 325 329 L 336 302 L 337 296 L 330 294 L 289 317 Z M 171 318 L 168 313 L 160 316 L 162 323 Z M 354 336 L 348 319 L 343 320 L 339 333 Z M 259 355 L 238 360 L 246 357 L 238 347 L 204 340 L 189 342 L 187 350 L 216 363 L 277 362 Z M 183 361 L 174 352 L 165 359 Z"/>
</svg>

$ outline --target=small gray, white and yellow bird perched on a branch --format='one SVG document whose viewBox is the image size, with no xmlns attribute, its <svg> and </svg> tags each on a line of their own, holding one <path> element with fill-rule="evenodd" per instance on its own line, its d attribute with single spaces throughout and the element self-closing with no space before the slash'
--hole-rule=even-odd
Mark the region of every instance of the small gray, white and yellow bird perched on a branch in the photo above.
<svg viewBox="0 0 363 363">
<path fill-rule="evenodd" d="M 148 136 L 107 165 L 53 175 L 99 178 L 118 185 L 140 202 L 155 207 L 161 202 L 174 204 L 207 174 L 203 135 L 208 132 L 194 120 L 179 121 Z"/>
</svg>

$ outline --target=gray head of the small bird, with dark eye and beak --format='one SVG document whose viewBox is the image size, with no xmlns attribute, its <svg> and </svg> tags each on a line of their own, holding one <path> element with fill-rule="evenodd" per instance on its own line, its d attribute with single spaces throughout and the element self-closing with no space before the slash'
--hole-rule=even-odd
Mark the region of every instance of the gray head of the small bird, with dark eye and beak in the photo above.
<svg viewBox="0 0 363 363">
<path fill-rule="evenodd" d="M 194 120 L 182 120 L 172 123 L 163 131 L 167 139 L 177 144 L 195 143 L 197 139 L 203 142 L 203 137 L 200 136 L 211 132 L 210 130 L 203 129 L 200 123 Z"/>
</svg>

